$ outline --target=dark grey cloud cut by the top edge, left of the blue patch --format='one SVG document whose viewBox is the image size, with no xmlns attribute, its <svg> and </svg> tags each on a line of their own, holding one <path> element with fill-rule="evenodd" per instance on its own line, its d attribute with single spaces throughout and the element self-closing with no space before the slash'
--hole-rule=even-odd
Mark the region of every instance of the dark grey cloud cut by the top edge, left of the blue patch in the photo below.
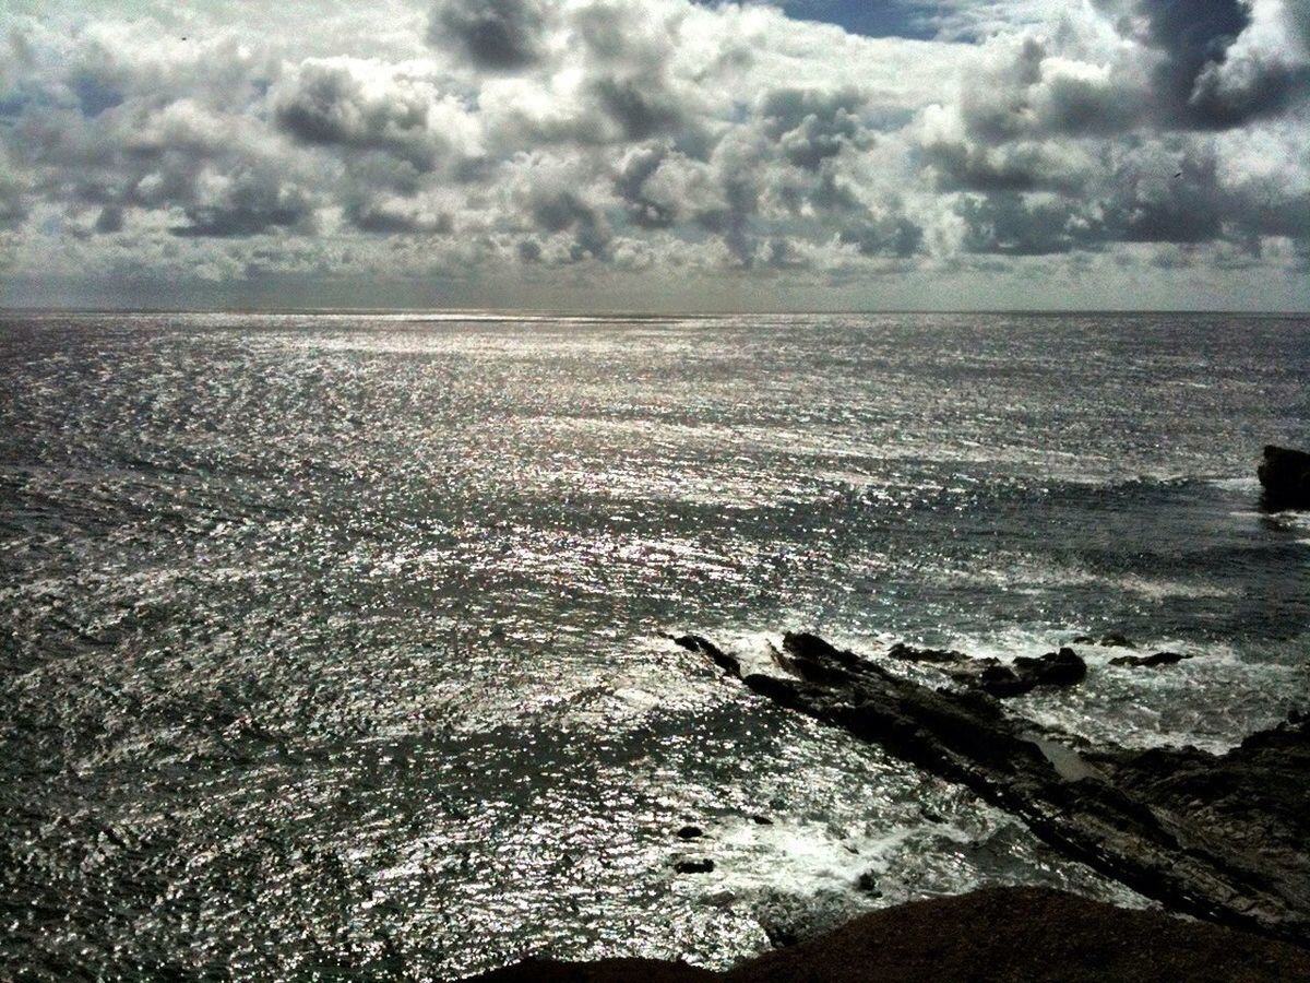
<svg viewBox="0 0 1310 983">
<path fill-rule="evenodd" d="M 439 0 L 428 41 L 478 68 L 512 71 L 541 56 L 545 9 L 538 0 Z"/>
</svg>

